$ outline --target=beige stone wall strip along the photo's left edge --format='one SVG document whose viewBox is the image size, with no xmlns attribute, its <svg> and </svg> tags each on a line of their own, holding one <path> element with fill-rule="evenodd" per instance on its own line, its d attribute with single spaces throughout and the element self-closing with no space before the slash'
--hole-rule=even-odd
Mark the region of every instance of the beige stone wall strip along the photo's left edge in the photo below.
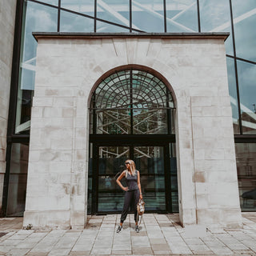
<svg viewBox="0 0 256 256">
<path fill-rule="evenodd" d="M 14 46 L 16 0 L 0 2 L 0 210 L 6 173 L 6 133 Z"/>
</svg>

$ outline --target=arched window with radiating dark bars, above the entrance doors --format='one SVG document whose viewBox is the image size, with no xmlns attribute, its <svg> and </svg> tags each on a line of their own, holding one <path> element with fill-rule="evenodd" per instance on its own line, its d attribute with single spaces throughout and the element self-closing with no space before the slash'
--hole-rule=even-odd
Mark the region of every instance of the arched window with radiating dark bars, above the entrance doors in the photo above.
<svg viewBox="0 0 256 256">
<path fill-rule="evenodd" d="M 90 104 L 90 134 L 174 134 L 170 90 L 143 70 L 120 70 L 99 83 Z"/>
</svg>

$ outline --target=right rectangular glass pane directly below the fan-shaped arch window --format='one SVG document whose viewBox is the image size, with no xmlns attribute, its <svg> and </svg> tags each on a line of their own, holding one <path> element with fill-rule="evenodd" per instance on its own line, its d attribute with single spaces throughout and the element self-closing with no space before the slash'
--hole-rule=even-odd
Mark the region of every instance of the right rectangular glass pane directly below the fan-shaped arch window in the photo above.
<svg viewBox="0 0 256 256">
<path fill-rule="evenodd" d="M 166 110 L 134 110 L 134 134 L 167 134 Z"/>
</svg>

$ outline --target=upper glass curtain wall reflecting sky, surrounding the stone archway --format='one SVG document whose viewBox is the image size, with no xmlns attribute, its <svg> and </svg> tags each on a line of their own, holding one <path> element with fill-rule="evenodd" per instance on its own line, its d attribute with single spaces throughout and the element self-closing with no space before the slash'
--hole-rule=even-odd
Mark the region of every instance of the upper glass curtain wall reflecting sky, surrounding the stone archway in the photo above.
<svg viewBox="0 0 256 256">
<path fill-rule="evenodd" d="M 230 32 L 226 62 L 236 142 L 256 143 L 255 0 L 22 0 L 9 144 L 30 134 L 38 32 Z M 19 4 L 20 5 L 20 4 Z M 20 26 L 22 24 L 22 26 Z M 20 136 L 20 137 L 18 137 Z M 24 141 L 25 142 L 25 141 Z M 9 170 L 6 170 L 7 172 Z"/>
</svg>

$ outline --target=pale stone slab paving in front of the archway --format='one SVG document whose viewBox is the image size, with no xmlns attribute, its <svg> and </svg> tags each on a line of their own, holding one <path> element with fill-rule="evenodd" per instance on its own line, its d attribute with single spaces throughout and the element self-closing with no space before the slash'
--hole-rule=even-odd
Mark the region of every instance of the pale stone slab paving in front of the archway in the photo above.
<svg viewBox="0 0 256 256">
<path fill-rule="evenodd" d="M 178 214 L 144 214 L 140 233 L 129 215 L 92 216 L 84 230 L 22 230 L 22 218 L 0 218 L 0 255 L 256 255 L 256 213 L 244 213 L 243 229 L 211 229 L 197 237 Z"/>
</svg>

